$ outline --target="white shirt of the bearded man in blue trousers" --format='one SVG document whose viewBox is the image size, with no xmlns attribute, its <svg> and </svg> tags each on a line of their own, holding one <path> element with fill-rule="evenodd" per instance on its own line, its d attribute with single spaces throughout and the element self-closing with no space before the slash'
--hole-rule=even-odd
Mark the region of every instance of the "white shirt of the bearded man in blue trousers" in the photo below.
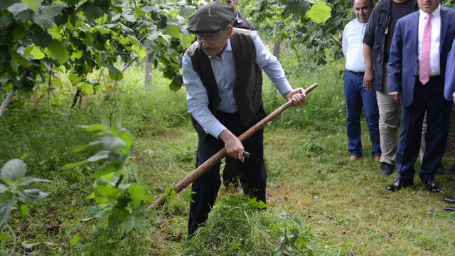
<svg viewBox="0 0 455 256">
<path fill-rule="evenodd" d="M 363 35 L 367 23 L 360 23 L 357 18 L 344 27 L 343 30 L 343 54 L 346 57 L 345 67 L 353 72 L 365 72 L 363 60 Z"/>
</svg>

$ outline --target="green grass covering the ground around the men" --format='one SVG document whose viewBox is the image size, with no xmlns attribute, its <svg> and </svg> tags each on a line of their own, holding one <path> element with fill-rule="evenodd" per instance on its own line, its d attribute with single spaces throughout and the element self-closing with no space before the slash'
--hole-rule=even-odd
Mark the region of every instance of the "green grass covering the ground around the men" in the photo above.
<svg viewBox="0 0 455 256">
<path fill-rule="evenodd" d="M 78 125 L 119 118 L 136 137 L 131 159 L 141 181 L 159 198 L 194 169 L 197 136 L 186 112 L 184 90 L 171 92 L 168 81 L 155 73 L 148 92 L 140 81 L 126 81 L 108 96 L 85 98 L 82 106 L 70 111 L 68 106 L 50 107 L 36 99 L 13 102 L 0 119 L 0 165 L 23 159 L 27 176 L 53 181 L 32 183 L 50 196 L 30 205 L 27 218 L 15 213 L 9 219 L 18 240 L 16 255 L 271 255 L 277 240 L 289 242 L 294 229 L 316 255 L 455 255 L 455 215 L 442 210 L 441 201 L 455 195 L 454 176 L 437 176 L 439 194 L 424 191 L 417 176 L 412 188 L 386 191 L 396 171 L 387 177 L 378 174 L 379 164 L 368 154 L 364 122 L 363 158 L 349 161 L 342 69 L 336 61 L 289 77 L 294 87 L 314 82 L 319 87 L 303 106 L 287 110 L 266 126 L 267 210 L 255 210 L 247 198 L 230 196 L 236 192 L 222 186 L 207 225 L 192 240 L 186 240 L 189 188 L 150 211 L 146 230 L 91 240 L 99 223 L 85 220 L 83 211 L 92 206 L 87 196 L 93 180 L 88 176 L 100 164 L 60 170 L 99 150 L 71 151 L 96 139 Z M 267 112 L 283 103 L 264 82 Z M 454 166 L 453 137 L 443 159 L 447 168 Z M 4 246 L 0 254 L 11 251 L 11 240 Z"/>
</svg>

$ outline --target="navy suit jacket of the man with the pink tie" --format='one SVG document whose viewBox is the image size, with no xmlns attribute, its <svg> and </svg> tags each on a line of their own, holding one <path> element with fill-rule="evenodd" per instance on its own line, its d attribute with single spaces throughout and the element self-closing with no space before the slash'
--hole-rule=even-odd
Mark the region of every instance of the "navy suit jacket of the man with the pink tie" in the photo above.
<svg viewBox="0 0 455 256">
<path fill-rule="evenodd" d="M 389 92 L 402 92 L 402 105 L 408 107 L 414 98 L 419 46 L 419 11 L 397 21 L 390 46 Z M 455 9 L 441 7 L 440 60 L 441 82 L 444 84 L 447 53 L 455 36 Z"/>
</svg>

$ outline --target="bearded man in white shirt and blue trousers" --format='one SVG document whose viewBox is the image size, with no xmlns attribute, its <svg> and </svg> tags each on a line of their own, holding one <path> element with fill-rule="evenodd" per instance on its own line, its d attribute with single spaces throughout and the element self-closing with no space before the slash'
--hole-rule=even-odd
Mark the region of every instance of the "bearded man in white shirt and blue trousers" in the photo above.
<svg viewBox="0 0 455 256">
<path fill-rule="evenodd" d="M 363 61 L 363 35 L 368 19 L 373 11 L 373 0 L 354 0 L 355 19 L 343 30 L 343 54 L 346 57 L 346 70 L 343 74 L 344 98 L 346 102 L 346 132 L 350 160 L 362 156 L 360 114 L 362 107 L 368 124 L 371 140 L 371 154 L 375 162 L 381 156 L 379 136 L 379 110 L 375 90 L 363 86 L 365 63 Z"/>
</svg>

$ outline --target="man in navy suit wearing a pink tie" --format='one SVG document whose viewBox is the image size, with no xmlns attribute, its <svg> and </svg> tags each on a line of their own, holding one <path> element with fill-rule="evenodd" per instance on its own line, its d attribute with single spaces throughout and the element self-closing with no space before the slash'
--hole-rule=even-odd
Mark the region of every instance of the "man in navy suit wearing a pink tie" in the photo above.
<svg viewBox="0 0 455 256">
<path fill-rule="evenodd" d="M 417 4 L 419 11 L 397 21 L 390 47 L 389 95 L 397 104 L 402 103 L 402 126 L 396 158 L 399 172 L 387 190 L 397 191 L 414 183 L 427 111 L 427 146 L 419 177 L 428 191 L 437 193 L 440 190 L 434 175 L 444 154 L 452 104 L 444 100 L 444 74 L 455 36 L 455 10 L 441 7 L 440 0 L 418 0 Z M 428 43 L 422 45 L 422 41 Z"/>
</svg>

